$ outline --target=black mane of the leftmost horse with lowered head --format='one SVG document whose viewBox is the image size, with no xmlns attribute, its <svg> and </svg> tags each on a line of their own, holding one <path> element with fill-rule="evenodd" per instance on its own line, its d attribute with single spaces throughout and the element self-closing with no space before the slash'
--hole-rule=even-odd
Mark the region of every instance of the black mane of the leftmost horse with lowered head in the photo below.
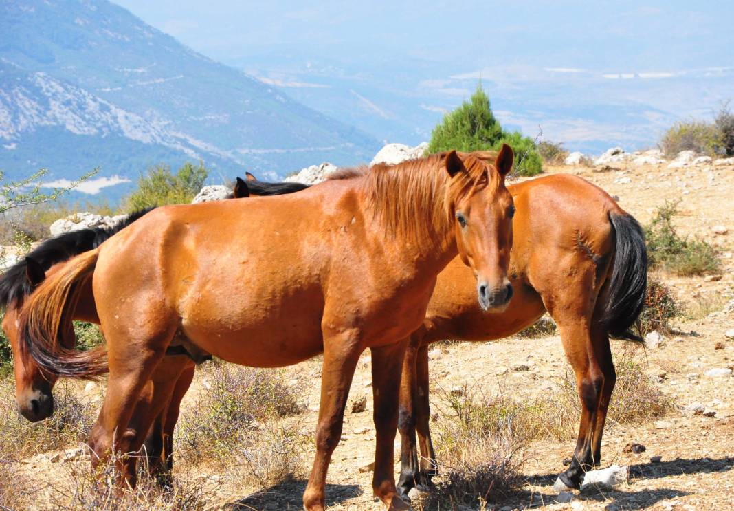
<svg viewBox="0 0 734 511">
<path fill-rule="evenodd" d="M 26 257 L 32 258 L 46 272 L 54 264 L 67 261 L 74 255 L 98 247 L 106 239 L 123 230 L 152 209 L 134 211 L 122 222 L 109 227 L 87 228 L 59 234 L 59 236 L 47 239 L 35 247 L 30 253 L 26 254 Z M 12 302 L 20 305 L 23 299 L 32 291 L 32 283 L 26 278 L 26 260 L 23 258 L 0 276 L 0 308 L 8 307 Z"/>
</svg>

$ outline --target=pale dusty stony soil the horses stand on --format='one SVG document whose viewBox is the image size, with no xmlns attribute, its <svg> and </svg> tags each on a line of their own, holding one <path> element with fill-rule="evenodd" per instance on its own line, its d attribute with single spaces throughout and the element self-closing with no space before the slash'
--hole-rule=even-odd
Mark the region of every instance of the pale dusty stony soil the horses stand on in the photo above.
<svg viewBox="0 0 734 511">
<path fill-rule="evenodd" d="M 645 361 L 647 372 L 660 380 L 658 385 L 664 393 L 675 399 L 675 410 L 663 419 L 664 424 L 609 424 L 606 429 L 603 466 L 629 465 L 630 482 L 610 492 L 588 496 L 576 493 L 570 503 L 555 503 L 556 493 L 551 486 L 563 468 L 562 460 L 570 457 L 574 441 L 536 442 L 524 452 L 523 491 L 495 504 L 498 509 L 718 510 L 734 506 L 734 377 L 705 376 L 708 369 L 734 367 L 734 340 L 724 337 L 724 331 L 734 328 L 734 313 L 722 312 L 724 305 L 734 299 L 734 168 L 619 166 L 619 170 L 606 172 L 586 167 L 558 167 L 549 172 L 574 173 L 598 184 L 619 197 L 619 204 L 642 223 L 650 220 L 664 200 L 680 199 L 680 215 L 676 218 L 680 233 L 699 236 L 719 250 L 722 278 L 655 275 L 672 287 L 688 312 L 675 323 L 677 333 L 666 337 L 660 347 L 638 355 Z M 730 232 L 714 234 L 713 225 L 724 225 Z M 715 349 L 719 341 L 724 343 L 723 349 Z M 614 341 L 614 349 L 623 349 L 622 342 Z M 520 363 L 530 366 L 530 370 L 505 372 Z M 481 385 L 491 393 L 504 385 L 505 392 L 519 397 L 553 393 L 553 382 L 563 377 L 567 364 L 559 337 L 549 336 L 444 344 L 432 355 L 431 369 L 435 387 Z M 291 383 L 308 404 L 302 424 L 311 431 L 316 424 L 320 370 L 319 360 L 288 369 Z M 367 396 L 368 405 L 363 413 L 346 414 L 344 435 L 329 472 L 330 510 L 383 509 L 371 496 L 371 472 L 364 468 L 374 454 L 370 380 L 369 358 L 364 355 L 350 398 Z M 438 398 L 432 399 L 434 409 L 440 409 Z M 715 416 L 694 416 L 686 410 L 694 402 L 711 408 Z M 186 396 L 183 406 L 191 403 L 192 396 Z M 644 444 L 647 450 L 642 454 L 623 453 L 623 447 L 631 441 Z M 313 449 L 305 454 L 307 463 L 312 455 Z M 651 463 L 650 458 L 655 456 L 661 457 L 659 463 Z M 54 465 L 48 462 L 29 460 L 26 466 L 27 475 L 33 479 L 45 480 L 54 473 Z M 396 464 L 396 474 L 398 469 Z M 218 491 L 222 503 L 240 501 L 241 509 L 297 510 L 301 508 L 303 488 L 305 481 L 275 488 L 227 484 Z"/>
</svg>

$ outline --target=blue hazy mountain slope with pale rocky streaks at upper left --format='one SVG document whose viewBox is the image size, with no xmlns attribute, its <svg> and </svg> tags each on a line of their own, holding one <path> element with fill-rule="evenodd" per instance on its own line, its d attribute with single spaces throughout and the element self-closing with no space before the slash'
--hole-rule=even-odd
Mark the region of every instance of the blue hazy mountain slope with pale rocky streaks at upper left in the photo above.
<svg viewBox="0 0 734 511">
<path fill-rule="evenodd" d="M 0 168 L 11 178 L 38 167 L 135 178 L 186 159 L 285 173 L 368 161 L 379 147 L 115 4 L 0 4 Z"/>
</svg>

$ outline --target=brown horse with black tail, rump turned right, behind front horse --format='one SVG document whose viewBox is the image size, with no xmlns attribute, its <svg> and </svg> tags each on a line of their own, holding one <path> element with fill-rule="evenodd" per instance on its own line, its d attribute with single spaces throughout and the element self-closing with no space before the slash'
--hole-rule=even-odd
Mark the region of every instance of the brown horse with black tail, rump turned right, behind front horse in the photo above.
<svg viewBox="0 0 734 511">
<path fill-rule="evenodd" d="M 426 490 L 435 473 L 429 432 L 429 344 L 441 339 L 504 338 L 532 325 L 545 311 L 559 327 L 581 399 L 573 461 L 555 487 L 578 488 L 584 473 L 600 463 L 616 381 L 609 337 L 641 340 L 628 329 L 644 305 L 644 234 L 606 192 L 573 175 L 549 175 L 508 189 L 517 207 L 509 270 L 515 289 L 512 304 L 501 314 L 481 314 L 473 300 L 471 272 L 457 258 L 438 275 L 426 319 L 410 338 L 399 415 L 401 495 L 416 484 Z"/>
</svg>

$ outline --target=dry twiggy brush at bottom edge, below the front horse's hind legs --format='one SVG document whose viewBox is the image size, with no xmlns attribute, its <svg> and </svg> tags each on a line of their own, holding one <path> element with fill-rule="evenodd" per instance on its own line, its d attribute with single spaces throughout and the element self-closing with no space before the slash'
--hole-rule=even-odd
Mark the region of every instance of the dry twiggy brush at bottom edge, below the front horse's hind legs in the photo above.
<svg viewBox="0 0 734 511">
<path fill-rule="evenodd" d="M 177 471 L 170 485 L 159 484 L 156 476 L 151 475 L 141 457 L 137 467 L 137 485 L 130 488 L 115 486 L 119 472 L 115 468 L 117 456 L 92 468 L 84 456 L 82 463 L 61 465 L 68 472 L 65 477 L 54 482 L 51 500 L 54 509 L 69 511 L 173 511 L 205 510 L 215 504 L 219 482 L 218 477 L 203 478 L 192 473 Z"/>
</svg>

